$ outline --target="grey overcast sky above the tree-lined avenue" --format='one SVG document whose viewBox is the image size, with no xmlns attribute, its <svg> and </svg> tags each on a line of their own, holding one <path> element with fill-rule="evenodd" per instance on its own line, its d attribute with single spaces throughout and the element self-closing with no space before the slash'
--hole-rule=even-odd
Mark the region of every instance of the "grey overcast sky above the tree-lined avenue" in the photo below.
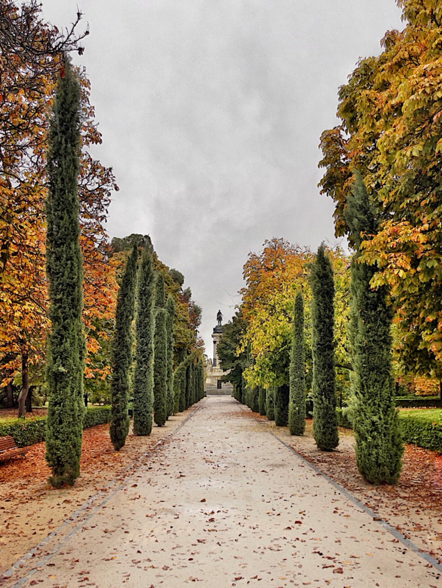
<svg viewBox="0 0 442 588">
<path fill-rule="evenodd" d="M 265 239 L 335 243 L 318 143 L 360 56 L 403 28 L 394 0 L 42 0 L 58 28 L 89 23 L 75 57 L 120 188 L 108 233 L 149 233 L 202 306 L 239 302 L 242 265 Z"/>
</svg>

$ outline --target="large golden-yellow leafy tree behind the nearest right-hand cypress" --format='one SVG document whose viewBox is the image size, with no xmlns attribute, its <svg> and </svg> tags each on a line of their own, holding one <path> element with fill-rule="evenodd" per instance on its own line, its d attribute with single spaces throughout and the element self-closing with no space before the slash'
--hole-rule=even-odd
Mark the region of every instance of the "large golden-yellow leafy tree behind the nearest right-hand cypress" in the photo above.
<svg viewBox="0 0 442 588">
<path fill-rule="evenodd" d="M 378 56 L 360 59 L 338 92 L 340 125 L 324 131 L 322 193 L 335 203 L 337 235 L 353 172 L 378 215 L 360 257 L 377 267 L 397 313 L 396 357 L 404 373 L 442 380 L 442 67 L 438 0 L 399 0 L 403 31 L 388 31 Z"/>
</svg>

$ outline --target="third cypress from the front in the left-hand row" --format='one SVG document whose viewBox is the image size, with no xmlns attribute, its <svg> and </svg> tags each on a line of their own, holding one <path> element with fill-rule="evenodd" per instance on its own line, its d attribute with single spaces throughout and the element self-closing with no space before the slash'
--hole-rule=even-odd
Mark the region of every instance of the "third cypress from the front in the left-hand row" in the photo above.
<svg viewBox="0 0 442 588">
<path fill-rule="evenodd" d="M 150 435 L 154 406 L 154 300 L 155 273 L 151 244 L 144 246 L 138 270 L 135 331 L 134 435 Z"/>
</svg>

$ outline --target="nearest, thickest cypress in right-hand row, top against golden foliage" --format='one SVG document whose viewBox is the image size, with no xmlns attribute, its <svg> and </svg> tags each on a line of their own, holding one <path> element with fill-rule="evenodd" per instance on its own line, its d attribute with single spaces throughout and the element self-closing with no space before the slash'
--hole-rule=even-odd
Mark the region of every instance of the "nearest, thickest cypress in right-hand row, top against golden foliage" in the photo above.
<svg viewBox="0 0 442 588">
<path fill-rule="evenodd" d="M 370 287 L 377 268 L 358 263 L 361 232 L 377 232 L 375 213 L 360 173 L 352 192 L 345 216 L 356 248 L 351 264 L 350 322 L 356 462 L 368 482 L 394 484 L 400 476 L 404 449 L 391 373 L 393 312 L 385 288 Z"/>
</svg>

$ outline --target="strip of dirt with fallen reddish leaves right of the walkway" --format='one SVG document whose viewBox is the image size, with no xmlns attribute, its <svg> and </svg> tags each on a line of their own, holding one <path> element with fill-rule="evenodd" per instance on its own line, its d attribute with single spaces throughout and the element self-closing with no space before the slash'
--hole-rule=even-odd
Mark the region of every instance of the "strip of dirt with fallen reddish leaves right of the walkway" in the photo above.
<svg viewBox="0 0 442 588">
<path fill-rule="evenodd" d="M 302 437 L 295 437 L 290 435 L 287 427 L 277 427 L 267 417 L 257 413 L 249 411 L 249 414 L 351 492 L 376 516 L 396 527 L 420 549 L 442 563 L 442 455 L 406 445 L 398 484 L 374 486 L 365 482 L 357 469 L 355 439 L 351 430 L 340 427 L 337 450 L 324 452 L 315 445 L 313 420 L 307 420 Z"/>
</svg>

